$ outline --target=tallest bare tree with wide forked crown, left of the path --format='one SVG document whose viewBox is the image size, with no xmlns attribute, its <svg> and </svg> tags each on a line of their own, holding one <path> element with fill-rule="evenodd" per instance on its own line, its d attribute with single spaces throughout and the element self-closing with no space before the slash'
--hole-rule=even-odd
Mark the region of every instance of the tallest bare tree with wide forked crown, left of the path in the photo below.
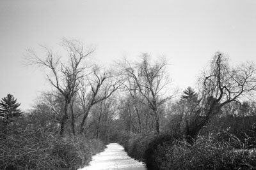
<svg viewBox="0 0 256 170">
<path fill-rule="evenodd" d="M 62 46 L 67 52 L 67 62 L 61 62 L 61 57 L 58 57 L 49 48 L 44 48 L 46 52 L 44 58 L 38 57 L 32 50 L 29 50 L 28 56 L 29 64 L 36 64 L 50 71 L 50 74 L 47 74 L 47 79 L 52 87 L 65 99 L 63 116 L 60 122 L 60 135 L 63 135 L 65 123 L 68 119 L 68 105 L 84 77 L 86 67 L 83 66 L 83 61 L 93 53 L 92 49 L 85 49 L 83 43 L 76 40 L 63 39 Z"/>
</svg>

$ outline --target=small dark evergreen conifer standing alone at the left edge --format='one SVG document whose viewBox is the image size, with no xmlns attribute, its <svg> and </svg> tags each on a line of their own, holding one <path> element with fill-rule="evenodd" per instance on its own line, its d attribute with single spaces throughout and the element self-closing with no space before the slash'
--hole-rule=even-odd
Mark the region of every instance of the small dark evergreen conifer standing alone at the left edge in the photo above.
<svg viewBox="0 0 256 170">
<path fill-rule="evenodd" d="M 5 131 L 7 130 L 8 124 L 13 122 L 12 118 L 20 117 L 22 115 L 22 111 L 18 108 L 20 103 L 17 103 L 17 99 L 13 97 L 12 94 L 7 94 L 6 97 L 1 99 L 0 103 L 0 117 L 5 123 Z"/>
</svg>

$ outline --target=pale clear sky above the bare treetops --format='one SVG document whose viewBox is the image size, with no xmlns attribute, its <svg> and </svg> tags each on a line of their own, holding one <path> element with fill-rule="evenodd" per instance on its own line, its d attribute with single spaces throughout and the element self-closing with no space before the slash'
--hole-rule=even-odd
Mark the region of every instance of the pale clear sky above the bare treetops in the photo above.
<svg viewBox="0 0 256 170">
<path fill-rule="evenodd" d="M 27 48 L 76 38 L 97 46 L 100 64 L 124 55 L 164 55 L 175 85 L 195 87 L 214 52 L 232 63 L 256 62 L 255 0 L 1 0 L 0 98 L 13 94 L 22 110 L 45 90 L 45 74 L 22 65 Z"/>
</svg>

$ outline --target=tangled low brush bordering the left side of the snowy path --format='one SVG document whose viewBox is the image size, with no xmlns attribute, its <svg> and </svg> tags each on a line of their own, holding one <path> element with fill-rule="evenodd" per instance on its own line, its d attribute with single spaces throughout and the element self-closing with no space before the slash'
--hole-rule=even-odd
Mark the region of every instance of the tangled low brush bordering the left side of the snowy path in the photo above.
<svg viewBox="0 0 256 170">
<path fill-rule="evenodd" d="M 60 137 L 44 129 L 15 129 L 0 134 L 0 169 L 78 169 L 104 143 L 83 136 Z"/>
</svg>

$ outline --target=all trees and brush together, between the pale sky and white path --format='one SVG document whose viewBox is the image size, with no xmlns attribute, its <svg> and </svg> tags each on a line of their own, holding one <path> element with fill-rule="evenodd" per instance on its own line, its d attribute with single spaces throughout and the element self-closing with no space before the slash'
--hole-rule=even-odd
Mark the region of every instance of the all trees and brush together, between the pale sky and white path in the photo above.
<svg viewBox="0 0 256 170">
<path fill-rule="evenodd" d="M 179 90 L 165 57 L 141 53 L 107 67 L 81 41 L 60 46 L 26 53 L 50 87 L 31 110 L 12 94 L 1 100 L 0 169 L 78 169 L 108 143 L 148 170 L 256 169 L 253 62 L 212 53 L 197 85 Z"/>
</svg>

